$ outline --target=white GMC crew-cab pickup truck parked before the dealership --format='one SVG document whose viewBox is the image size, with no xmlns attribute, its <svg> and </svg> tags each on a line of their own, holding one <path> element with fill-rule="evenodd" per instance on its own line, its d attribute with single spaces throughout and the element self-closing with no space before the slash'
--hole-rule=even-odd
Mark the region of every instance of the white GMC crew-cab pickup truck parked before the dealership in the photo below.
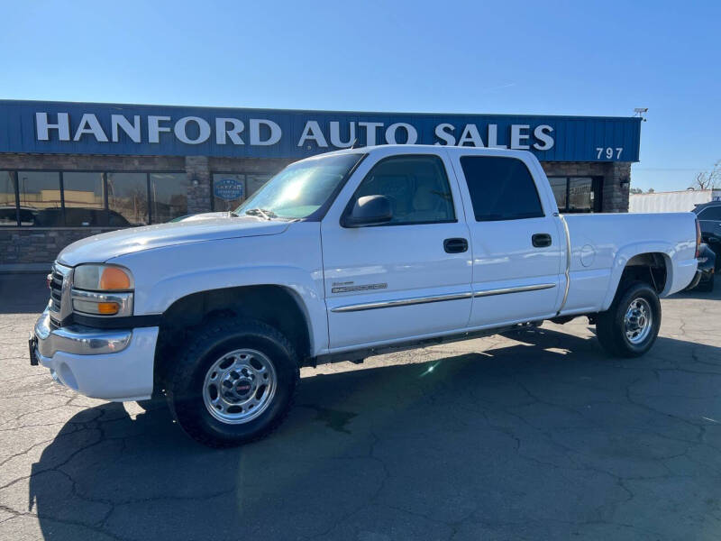
<svg viewBox="0 0 721 541">
<path fill-rule="evenodd" d="M 559 215 L 530 152 L 330 152 L 233 213 L 68 246 L 31 362 L 90 397 L 164 393 L 188 435 L 238 445 L 278 426 L 304 365 L 574 316 L 641 355 L 698 243 L 691 213 Z"/>
</svg>

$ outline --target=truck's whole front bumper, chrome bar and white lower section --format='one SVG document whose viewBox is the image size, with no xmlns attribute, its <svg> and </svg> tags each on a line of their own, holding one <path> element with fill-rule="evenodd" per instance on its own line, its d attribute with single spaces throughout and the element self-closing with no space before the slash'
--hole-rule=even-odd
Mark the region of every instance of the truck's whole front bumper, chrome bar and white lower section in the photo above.
<svg viewBox="0 0 721 541">
<path fill-rule="evenodd" d="M 35 355 L 55 381 L 94 399 L 149 399 L 158 327 L 101 331 L 87 326 L 35 324 Z"/>
</svg>

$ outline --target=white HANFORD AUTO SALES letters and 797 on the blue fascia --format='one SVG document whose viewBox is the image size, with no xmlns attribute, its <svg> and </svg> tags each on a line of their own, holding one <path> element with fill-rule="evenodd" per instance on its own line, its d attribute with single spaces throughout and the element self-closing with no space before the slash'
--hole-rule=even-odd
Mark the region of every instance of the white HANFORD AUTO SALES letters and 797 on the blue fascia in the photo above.
<svg viewBox="0 0 721 541">
<path fill-rule="evenodd" d="M 93 113 L 84 113 L 71 119 L 68 113 L 38 112 L 35 113 L 35 136 L 37 141 L 122 143 L 160 143 L 162 137 L 164 142 L 174 140 L 191 145 L 211 141 L 214 136 L 214 143 L 218 145 L 244 145 L 247 142 L 251 146 L 272 146 L 280 142 L 284 135 L 278 123 L 265 118 L 242 120 L 200 116 L 177 119 L 160 115 L 148 115 L 145 118 L 141 118 L 141 115 L 108 116 L 103 118 Z M 553 128 L 548 124 L 510 124 L 502 133 L 499 133 L 498 124 L 440 123 L 431 127 L 433 143 L 442 146 L 550 151 L 555 145 Z M 424 127 L 424 133 L 426 129 L 429 128 Z M 487 137 L 485 141 L 484 137 Z M 321 123 L 310 119 L 303 124 L 297 147 L 305 147 L 306 150 L 345 149 L 356 140 L 364 142 L 365 146 L 384 142 L 415 144 L 418 138 L 418 129 L 406 122 L 386 126 L 382 122 L 330 120 Z M 611 155 L 619 160 L 621 152 L 618 149 L 621 147 L 613 147 L 613 151 L 609 151 L 609 148 L 596 147 L 597 159 L 608 160 Z"/>
</svg>

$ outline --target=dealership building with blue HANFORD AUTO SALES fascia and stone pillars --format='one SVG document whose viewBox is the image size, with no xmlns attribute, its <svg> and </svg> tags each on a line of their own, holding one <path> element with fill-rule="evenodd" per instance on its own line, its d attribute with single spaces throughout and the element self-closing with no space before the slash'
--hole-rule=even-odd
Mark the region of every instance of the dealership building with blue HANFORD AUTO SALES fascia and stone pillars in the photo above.
<svg viewBox="0 0 721 541">
<path fill-rule="evenodd" d="M 641 119 L 0 100 L 0 271 L 83 237 L 229 210 L 288 163 L 417 143 L 534 152 L 563 213 L 626 212 Z"/>
</svg>

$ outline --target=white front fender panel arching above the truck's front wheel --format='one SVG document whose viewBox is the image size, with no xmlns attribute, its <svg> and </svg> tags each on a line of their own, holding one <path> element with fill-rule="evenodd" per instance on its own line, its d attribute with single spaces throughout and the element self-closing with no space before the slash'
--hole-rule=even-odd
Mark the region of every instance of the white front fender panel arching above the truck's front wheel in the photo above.
<svg viewBox="0 0 721 541">
<path fill-rule="evenodd" d="M 132 271 L 135 316 L 163 314 L 178 299 L 213 289 L 285 288 L 306 314 L 311 353 L 315 353 L 328 345 L 318 225 L 292 230 L 169 246 L 124 255 L 113 262 Z"/>
</svg>

